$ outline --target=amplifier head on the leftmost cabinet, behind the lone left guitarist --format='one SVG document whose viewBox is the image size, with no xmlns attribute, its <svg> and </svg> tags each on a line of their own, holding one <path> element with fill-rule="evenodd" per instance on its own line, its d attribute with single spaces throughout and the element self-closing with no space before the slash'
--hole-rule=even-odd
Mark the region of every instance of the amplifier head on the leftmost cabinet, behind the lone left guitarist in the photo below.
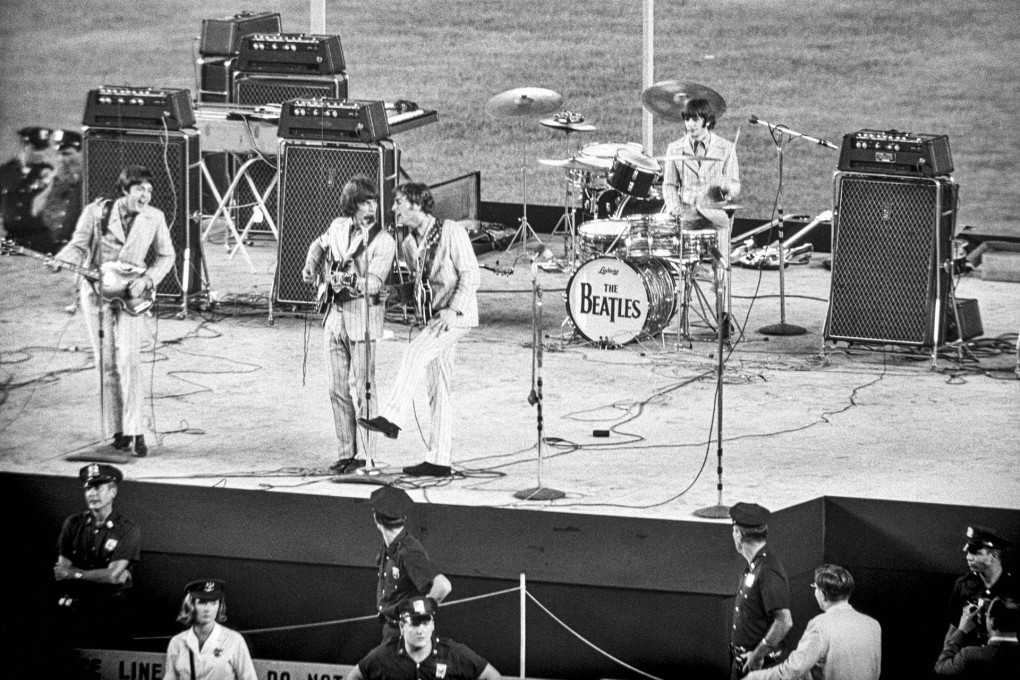
<svg viewBox="0 0 1020 680">
<path fill-rule="evenodd" d="M 181 129 L 195 126 L 191 92 L 106 85 L 89 91 L 82 123 L 90 127 Z"/>
</svg>

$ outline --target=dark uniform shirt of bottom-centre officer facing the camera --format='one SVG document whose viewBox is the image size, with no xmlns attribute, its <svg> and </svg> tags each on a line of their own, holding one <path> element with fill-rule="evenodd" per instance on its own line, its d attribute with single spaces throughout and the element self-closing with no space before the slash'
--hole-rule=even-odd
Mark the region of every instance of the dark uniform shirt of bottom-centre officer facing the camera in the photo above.
<svg viewBox="0 0 1020 680">
<path fill-rule="evenodd" d="M 489 663 L 467 646 L 435 638 L 432 652 L 419 663 L 400 639 L 384 642 L 358 662 L 365 680 L 476 680 Z"/>
</svg>

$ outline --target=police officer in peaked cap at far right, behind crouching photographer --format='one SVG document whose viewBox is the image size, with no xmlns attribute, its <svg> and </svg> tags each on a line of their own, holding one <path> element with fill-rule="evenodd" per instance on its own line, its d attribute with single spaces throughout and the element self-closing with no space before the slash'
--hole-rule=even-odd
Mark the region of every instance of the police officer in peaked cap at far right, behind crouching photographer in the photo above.
<svg viewBox="0 0 1020 680">
<path fill-rule="evenodd" d="M 1012 543 L 993 529 L 977 524 L 967 527 L 965 537 L 967 542 L 964 543 L 963 553 L 967 559 L 967 573 L 958 578 L 953 585 L 949 609 L 946 612 L 949 630 L 944 640 L 948 641 L 956 632 L 964 608 L 973 607 L 972 614 L 977 625 L 963 637 L 963 646 L 984 644 L 987 640 L 984 615 L 992 599 L 996 597 L 1020 599 L 1020 583 L 1003 566 L 1003 553 L 1009 550 Z"/>
</svg>

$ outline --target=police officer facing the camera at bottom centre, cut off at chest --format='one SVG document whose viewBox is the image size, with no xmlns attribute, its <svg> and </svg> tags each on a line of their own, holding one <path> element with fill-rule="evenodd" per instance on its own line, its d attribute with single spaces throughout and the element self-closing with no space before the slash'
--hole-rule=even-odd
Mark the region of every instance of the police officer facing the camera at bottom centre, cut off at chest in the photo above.
<svg viewBox="0 0 1020 680">
<path fill-rule="evenodd" d="M 499 680 L 499 671 L 466 645 L 436 636 L 436 609 L 430 597 L 405 599 L 400 637 L 369 651 L 346 680 Z"/>
</svg>

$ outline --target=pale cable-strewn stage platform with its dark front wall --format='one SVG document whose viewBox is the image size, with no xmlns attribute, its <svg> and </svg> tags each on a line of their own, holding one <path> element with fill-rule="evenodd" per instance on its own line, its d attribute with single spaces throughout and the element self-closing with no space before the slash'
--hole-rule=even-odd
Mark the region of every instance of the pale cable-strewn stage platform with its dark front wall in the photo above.
<svg viewBox="0 0 1020 680">
<path fill-rule="evenodd" d="M 542 239 L 562 255 L 560 237 Z M 146 527 L 145 630 L 173 632 L 167 610 L 176 606 L 178 581 L 203 568 L 226 571 L 247 583 L 241 593 L 266 598 L 264 607 L 251 607 L 257 615 L 238 608 L 240 628 L 280 624 L 268 603 L 287 597 L 273 592 L 300 591 L 306 599 L 316 588 L 361 593 L 303 610 L 285 604 L 292 609 L 284 618 L 293 624 L 370 614 L 377 534 L 356 501 L 392 482 L 419 504 L 414 526 L 454 578 L 455 598 L 515 587 L 527 572 L 540 598 L 572 612 L 580 628 L 594 623 L 602 641 L 635 667 L 667 676 L 721 673 L 743 567 L 727 522 L 694 514 L 719 499 L 714 334 L 695 314 L 690 342 L 674 322 L 661 337 L 599 349 L 565 323 L 569 272 L 540 269 L 542 483 L 565 496 L 518 500 L 515 491 L 538 484 L 536 410 L 527 401 L 529 252 L 537 250 L 532 241 L 528 251 L 479 257 L 513 273 L 482 271 L 481 324 L 458 348 L 456 475 L 400 475 L 424 452 L 412 420 L 396 441 L 375 441 L 379 475 L 340 478 L 327 469 L 337 452 L 319 319 L 278 307 L 270 319 L 272 241 L 247 246 L 251 266 L 241 253 L 228 258 L 222 245 L 205 244 L 215 305 L 193 308 L 185 319 L 172 310 L 147 319 L 155 338 L 145 353 L 150 453 L 121 465 L 124 507 Z M 823 258 L 786 270 L 785 320 L 807 329 L 798 336 L 756 331 L 780 320 L 778 272 L 733 269 L 732 309 L 743 334 L 727 348 L 723 372 L 722 501 L 756 502 L 777 513 L 774 541 L 796 581 L 795 634 L 816 614 L 806 583 L 823 560 L 845 564 L 865 583 L 870 577 L 861 600 L 887 614 L 883 627 L 894 634 L 905 624 L 895 608 L 906 603 L 916 611 L 905 599 L 910 593 L 937 588 L 936 601 L 921 609 L 940 616 L 952 578 L 964 568 L 959 550 L 968 522 L 1020 537 L 1020 382 L 1009 350 L 1020 328 L 1020 286 L 959 280 L 957 297 L 978 301 L 984 328 L 962 361 L 954 348 L 933 360 L 920 350 L 826 346 Z M 31 532 L 16 533 L 41 553 L 33 562 L 45 572 L 60 519 L 81 508 L 73 477 L 83 463 L 69 459 L 108 450 L 99 441 L 84 325 L 65 311 L 73 301 L 70 277 L 3 258 L 0 281 L 0 479 L 12 507 L 32 517 Z M 707 280 L 700 285 L 708 292 Z M 376 395 L 392 384 L 415 332 L 399 313 L 387 327 L 393 335 L 379 345 Z M 415 404 L 423 420 L 423 390 Z M 270 583 L 255 587 L 260 578 Z M 504 605 L 497 608 L 500 623 L 484 631 L 463 621 L 444 625 L 472 646 L 486 647 L 478 635 L 500 638 L 491 642 L 490 659 L 514 675 L 516 603 L 507 611 Z M 607 610 L 619 619 L 607 620 Z M 623 637 L 614 637 L 620 622 Z M 573 638 L 537 625 L 540 649 L 529 676 L 636 677 L 594 652 L 573 656 Z M 262 658 L 282 659 L 284 650 L 292 659 L 350 664 L 367 651 L 372 634 L 340 645 L 328 635 L 306 635 L 302 644 L 257 642 Z M 503 644 L 501 636 L 513 639 Z M 917 640 L 924 655 L 940 642 L 930 637 Z M 886 642 L 896 648 L 902 640 Z M 907 668 L 913 649 L 890 651 L 888 667 Z"/>
</svg>

